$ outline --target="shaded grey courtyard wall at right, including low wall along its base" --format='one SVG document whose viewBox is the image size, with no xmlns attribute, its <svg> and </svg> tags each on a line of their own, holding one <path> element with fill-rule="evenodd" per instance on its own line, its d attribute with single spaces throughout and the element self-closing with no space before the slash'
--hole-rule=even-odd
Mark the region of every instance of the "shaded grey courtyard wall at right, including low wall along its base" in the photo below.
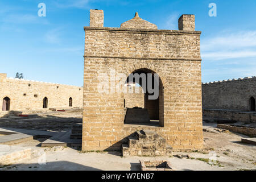
<svg viewBox="0 0 256 182">
<path fill-rule="evenodd" d="M 256 122 L 256 77 L 202 84 L 203 115 L 241 122 Z"/>
</svg>

